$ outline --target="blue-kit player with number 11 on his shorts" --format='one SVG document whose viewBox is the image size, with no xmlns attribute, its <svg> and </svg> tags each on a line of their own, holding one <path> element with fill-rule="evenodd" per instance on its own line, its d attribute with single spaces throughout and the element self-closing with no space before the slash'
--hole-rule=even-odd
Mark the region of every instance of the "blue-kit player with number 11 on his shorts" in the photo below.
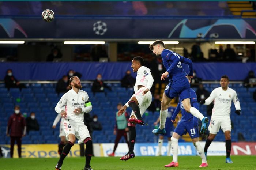
<svg viewBox="0 0 256 170">
<path fill-rule="evenodd" d="M 190 77 L 187 76 L 187 78 L 190 82 Z M 196 92 L 192 88 L 190 88 L 189 93 L 191 95 L 191 101 L 190 101 L 191 105 L 198 109 Z M 192 114 L 187 113 L 184 109 L 182 102 L 179 101 L 172 115 L 172 118 L 171 118 L 172 122 L 175 122 L 175 117 L 180 112 L 180 110 L 182 114 L 181 121 L 178 123 L 178 125 L 174 129 L 174 132 L 171 138 L 173 161 L 165 165 L 165 167 L 178 167 L 178 140 L 181 138 L 182 135 L 187 134 L 187 132 L 189 133 L 189 136 L 191 137 L 191 140 L 202 159 L 202 164 L 199 167 L 207 167 L 208 163 L 206 161 L 206 156 L 204 155 L 204 150 L 199 143 L 198 118 L 196 118 Z"/>
</svg>

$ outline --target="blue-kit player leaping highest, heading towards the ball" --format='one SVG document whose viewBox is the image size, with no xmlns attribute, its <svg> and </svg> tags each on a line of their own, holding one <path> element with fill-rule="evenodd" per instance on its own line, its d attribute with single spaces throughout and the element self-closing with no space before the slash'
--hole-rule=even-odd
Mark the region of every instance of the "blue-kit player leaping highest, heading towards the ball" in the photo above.
<svg viewBox="0 0 256 170">
<path fill-rule="evenodd" d="M 204 117 L 202 113 L 199 112 L 195 107 L 190 105 L 190 84 L 186 78 L 187 73 L 182 68 L 181 63 L 188 64 L 189 73 L 188 76 L 193 77 L 193 64 L 188 58 L 182 57 L 179 54 L 165 49 L 165 44 L 161 40 L 156 40 L 153 44 L 149 46 L 150 50 L 154 54 L 161 55 L 163 60 L 163 65 L 166 68 L 166 72 L 162 74 L 161 80 L 169 78 L 169 84 L 165 88 L 163 93 L 163 98 L 161 101 L 160 110 L 160 125 L 158 129 L 154 129 L 152 132 L 154 134 L 165 134 L 165 121 L 167 117 L 168 104 L 174 97 L 179 96 L 186 112 L 190 112 L 193 116 L 199 118 L 202 121 L 202 127 L 200 132 L 203 134 L 207 131 L 207 124 L 209 119 Z"/>
</svg>

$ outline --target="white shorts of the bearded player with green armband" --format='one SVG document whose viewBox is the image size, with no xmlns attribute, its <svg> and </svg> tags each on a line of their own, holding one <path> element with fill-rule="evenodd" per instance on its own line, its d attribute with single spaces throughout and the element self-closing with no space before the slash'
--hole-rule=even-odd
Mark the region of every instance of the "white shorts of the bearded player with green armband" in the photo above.
<svg viewBox="0 0 256 170">
<path fill-rule="evenodd" d="M 87 137 L 91 137 L 86 125 L 73 125 L 69 121 L 64 120 L 63 127 L 66 139 L 68 140 L 69 134 L 73 134 L 78 139 L 78 144 L 83 143 Z"/>
</svg>

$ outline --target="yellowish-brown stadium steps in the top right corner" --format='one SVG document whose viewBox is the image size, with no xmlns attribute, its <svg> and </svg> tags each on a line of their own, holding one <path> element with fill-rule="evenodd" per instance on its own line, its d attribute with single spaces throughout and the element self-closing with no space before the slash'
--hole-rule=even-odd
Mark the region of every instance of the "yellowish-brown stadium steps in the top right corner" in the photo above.
<svg viewBox="0 0 256 170">
<path fill-rule="evenodd" d="M 256 12 L 253 11 L 253 5 L 249 1 L 228 1 L 227 4 L 233 15 L 239 15 L 246 18 L 256 17 Z"/>
</svg>

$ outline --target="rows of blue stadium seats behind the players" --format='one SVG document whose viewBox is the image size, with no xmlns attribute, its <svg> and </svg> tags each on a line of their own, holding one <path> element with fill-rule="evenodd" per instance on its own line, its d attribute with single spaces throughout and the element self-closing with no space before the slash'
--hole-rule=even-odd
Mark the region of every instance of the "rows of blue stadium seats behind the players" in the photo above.
<svg viewBox="0 0 256 170">
<path fill-rule="evenodd" d="M 59 124 L 56 129 L 52 129 L 52 123 L 56 117 L 54 107 L 59 101 L 61 95 L 55 92 L 56 84 L 26 84 L 27 88 L 21 91 L 19 88 L 11 88 L 10 91 L 0 84 L 0 144 L 10 144 L 10 138 L 5 135 L 8 118 L 14 112 L 14 106 L 19 105 L 23 114 L 29 116 L 30 112 L 35 112 L 40 125 L 39 131 L 30 131 L 22 139 L 23 144 L 37 143 L 58 143 L 59 142 Z M 125 89 L 120 83 L 112 83 L 112 91 L 105 93 L 91 92 L 91 84 L 83 84 L 83 90 L 87 91 L 90 101 L 93 105 L 91 115 L 97 114 L 98 120 L 102 123 L 102 131 L 93 131 L 94 143 L 114 143 L 115 135 L 113 128 L 115 125 L 115 112 L 117 103 L 125 103 L 133 94 L 133 89 Z M 204 84 L 208 91 L 219 87 L 219 84 Z M 231 88 L 237 91 L 240 99 L 242 114 L 237 116 L 234 111 L 234 105 L 231 107 L 231 121 L 233 124 L 232 140 L 238 140 L 238 133 L 242 133 L 246 141 L 256 141 L 256 103 L 252 98 L 253 91 L 256 88 L 246 89 L 241 84 L 230 84 Z M 195 89 L 196 90 L 196 89 Z M 176 106 L 173 104 L 173 106 Z M 200 111 L 206 114 L 206 106 L 199 106 Z M 128 108 L 131 113 L 131 109 Z M 157 142 L 157 136 L 151 133 L 154 128 L 153 123 L 159 117 L 159 112 L 147 112 L 143 118 L 147 125 L 137 126 L 137 142 Z M 210 118 L 210 117 L 209 117 Z M 174 124 L 176 126 L 176 124 Z M 220 132 L 215 141 L 224 141 L 225 137 Z M 189 141 L 188 136 L 184 136 L 182 141 Z M 121 140 L 124 142 L 124 139 Z"/>
</svg>

